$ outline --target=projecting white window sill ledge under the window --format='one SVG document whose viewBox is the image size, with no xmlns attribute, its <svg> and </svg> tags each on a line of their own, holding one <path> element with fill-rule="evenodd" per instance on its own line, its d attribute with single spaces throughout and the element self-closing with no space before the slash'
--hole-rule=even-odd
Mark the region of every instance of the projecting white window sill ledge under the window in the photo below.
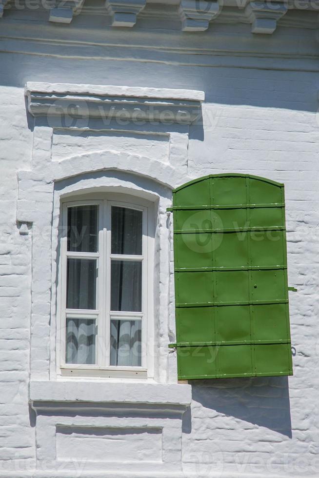
<svg viewBox="0 0 319 478">
<path fill-rule="evenodd" d="M 186 384 L 162 384 L 143 381 L 68 380 L 31 381 L 30 401 L 34 408 L 41 402 L 91 402 L 96 404 L 158 404 L 188 406 L 192 389 Z"/>
</svg>

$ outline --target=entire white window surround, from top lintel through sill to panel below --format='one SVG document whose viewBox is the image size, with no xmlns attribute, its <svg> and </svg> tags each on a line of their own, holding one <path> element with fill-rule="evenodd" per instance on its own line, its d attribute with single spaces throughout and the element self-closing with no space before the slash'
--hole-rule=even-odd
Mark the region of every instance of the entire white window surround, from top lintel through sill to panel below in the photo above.
<svg viewBox="0 0 319 478">
<path fill-rule="evenodd" d="M 119 478 L 143 475 L 183 478 L 182 416 L 191 402 L 191 386 L 177 384 L 176 352 L 168 348 L 175 337 L 175 319 L 172 223 L 166 208 L 171 205 L 172 189 L 190 179 L 187 175 L 190 120 L 151 121 L 150 111 L 158 104 L 159 109 L 168 110 L 171 118 L 178 121 L 179 110 L 185 110 L 186 105 L 186 111 L 189 108 L 197 116 L 204 95 L 187 90 L 48 83 L 28 83 L 25 92 L 29 112 L 35 117 L 34 137 L 30 170 L 18 172 L 17 225 L 21 234 L 29 232 L 27 240 L 32 247 L 29 400 L 37 417 L 34 477 L 46 477 L 43 470 L 48 462 L 51 477 L 74 477 L 77 456 L 72 453 L 80 452 L 74 448 L 72 437 L 94 436 L 102 446 L 104 439 L 119 434 L 130 444 L 135 439 L 132 428 L 137 428 L 138 439 L 144 443 L 151 440 L 155 461 L 152 458 L 137 461 L 133 455 L 126 462 L 109 461 L 114 459 L 112 456 L 100 461 L 101 449 L 97 461 L 87 457 L 81 476 L 100 477 L 101 466 L 107 466 L 112 476 Z M 117 115 L 107 119 L 104 113 L 100 117 L 95 115 L 97 104 L 109 100 L 120 100 L 120 108 L 130 112 L 128 119 L 126 113 L 125 125 Z M 145 121 L 134 121 L 136 104 L 146 104 Z M 81 115 L 64 121 L 68 107 L 75 107 Z M 62 140 L 55 142 L 59 135 Z M 77 139 L 83 135 L 98 137 L 98 142 L 90 140 L 89 148 L 86 146 L 81 152 L 83 142 Z M 112 135 L 125 141 L 114 142 Z M 72 147 L 65 151 L 65 141 L 76 146 L 74 156 Z M 138 154 L 139 144 L 145 148 L 148 141 L 151 146 L 146 153 Z M 56 155 L 56 149 L 53 152 L 53 144 L 55 148 L 60 144 L 62 154 Z M 134 148 L 137 154 L 132 154 Z M 57 370 L 61 202 L 87 194 L 128 194 L 154 206 L 154 332 L 149 329 L 152 337 L 148 343 L 153 356 L 144 379 L 133 379 L 127 374 L 114 378 L 100 371 L 86 378 L 76 374 L 66 377 Z M 156 430 L 155 435 L 152 430 Z"/>
</svg>

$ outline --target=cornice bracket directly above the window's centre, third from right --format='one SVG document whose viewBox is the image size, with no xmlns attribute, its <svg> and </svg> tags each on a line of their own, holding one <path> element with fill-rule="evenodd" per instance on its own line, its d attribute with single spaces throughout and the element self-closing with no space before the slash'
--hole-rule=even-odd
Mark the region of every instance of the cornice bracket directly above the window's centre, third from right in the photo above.
<svg viewBox="0 0 319 478">
<path fill-rule="evenodd" d="M 146 5 L 146 0 L 106 0 L 105 7 L 111 15 L 112 26 L 132 27 Z"/>
</svg>

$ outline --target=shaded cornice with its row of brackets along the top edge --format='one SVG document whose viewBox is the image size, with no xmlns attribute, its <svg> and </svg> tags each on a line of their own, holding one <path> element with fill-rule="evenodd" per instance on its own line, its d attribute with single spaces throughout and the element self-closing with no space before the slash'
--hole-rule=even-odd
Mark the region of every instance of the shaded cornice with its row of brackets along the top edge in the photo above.
<svg viewBox="0 0 319 478">
<path fill-rule="evenodd" d="M 148 21 L 152 28 L 155 21 L 159 28 L 165 28 L 167 20 L 173 20 L 177 25 L 179 22 L 186 36 L 205 31 L 210 24 L 216 23 L 246 23 L 251 24 L 254 34 L 271 34 L 282 17 L 281 26 L 312 29 L 314 24 L 317 27 L 319 14 L 319 0 L 156 0 L 156 3 L 153 0 L 105 0 L 99 6 L 85 0 L 33 1 L 39 2 L 39 9 L 33 8 L 34 18 L 27 16 L 27 22 L 37 21 L 39 10 L 42 9 L 43 14 L 43 8 L 46 8 L 49 10 L 47 18 L 53 24 L 71 23 L 79 14 L 105 16 L 107 26 L 119 28 L 133 27 L 139 18 L 140 28 L 148 28 Z M 0 0 L 0 18 L 4 10 L 14 12 L 15 8 L 15 2 Z M 300 15 L 291 15 L 292 10 Z M 3 16 L 6 16 L 5 12 Z M 13 18 L 15 16 L 14 13 Z"/>
</svg>

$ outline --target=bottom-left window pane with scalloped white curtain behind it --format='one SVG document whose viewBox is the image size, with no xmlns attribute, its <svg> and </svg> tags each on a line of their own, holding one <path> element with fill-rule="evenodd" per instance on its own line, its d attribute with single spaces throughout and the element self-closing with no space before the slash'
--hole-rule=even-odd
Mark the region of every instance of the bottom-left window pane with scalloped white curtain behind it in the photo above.
<svg viewBox="0 0 319 478">
<path fill-rule="evenodd" d="M 95 320 L 66 319 L 66 363 L 95 363 Z"/>
</svg>

